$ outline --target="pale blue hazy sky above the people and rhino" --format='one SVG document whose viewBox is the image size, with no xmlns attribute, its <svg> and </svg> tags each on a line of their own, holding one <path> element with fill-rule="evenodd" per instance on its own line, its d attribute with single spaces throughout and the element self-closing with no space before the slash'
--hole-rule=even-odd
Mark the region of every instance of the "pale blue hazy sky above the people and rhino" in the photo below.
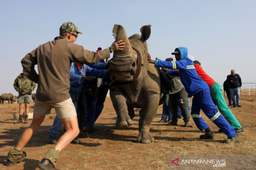
<svg viewBox="0 0 256 170">
<path fill-rule="evenodd" d="M 111 45 L 114 24 L 124 26 L 128 36 L 151 25 L 152 58 L 164 60 L 176 47 L 188 47 L 220 85 L 231 69 L 242 82 L 256 82 L 255 6 L 254 0 L 2 1 L 0 94 L 18 95 L 13 83 L 22 72 L 21 59 L 53 40 L 66 21 L 83 33 L 76 43 L 91 51 Z"/>
</svg>

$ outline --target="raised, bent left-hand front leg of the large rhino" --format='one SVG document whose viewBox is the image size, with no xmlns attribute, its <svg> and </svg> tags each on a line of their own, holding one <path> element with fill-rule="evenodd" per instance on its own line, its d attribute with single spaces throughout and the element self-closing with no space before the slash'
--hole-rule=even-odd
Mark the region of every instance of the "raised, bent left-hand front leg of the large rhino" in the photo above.
<svg viewBox="0 0 256 170">
<path fill-rule="evenodd" d="M 128 114 L 127 98 L 124 97 L 117 89 L 110 91 L 110 97 L 113 103 L 114 110 L 117 113 L 117 122 L 115 123 L 117 128 L 126 128 L 132 125 L 132 120 Z"/>
</svg>

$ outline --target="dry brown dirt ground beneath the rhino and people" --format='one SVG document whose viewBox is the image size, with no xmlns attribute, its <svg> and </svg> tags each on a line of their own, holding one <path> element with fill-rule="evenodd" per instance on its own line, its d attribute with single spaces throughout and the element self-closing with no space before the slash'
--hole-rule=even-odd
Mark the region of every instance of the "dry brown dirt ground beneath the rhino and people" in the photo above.
<svg viewBox="0 0 256 170">
<path fill-rule="evenodd" d="M 191 100 L 192 101 L 192 100 Z M 240 132 L 240 140 L 233 144 L 225 144 L 227 138 L 218 133 L 218 128 L 201 113 L 211 130 L 215 132 L 214 140 L 200 140 L 202 134 L 191 119 L 193 128 L 184 128 L 183 120 L 177 126 L 158 123 L 161 119 L 162 106 L 151 123 L 151 135 L 155 142 L 144 145 L 137 142 L 139 115 L 133 119 L 129 128 L 114 127 L 116 113 L 108 97 L 105 108 L 97 120 L 97 131 L 90 138 L 80 138 L 81 144 L 70 144 L 60 154 L 56 167 L 58 169 L 170 169 L 170 155 L 184 154 L 255 154 L 256 153 L 256 103 L 240 101 L 241 108 L 230 108 L 239 120 L 245 132 Z M 33 111 L 31 103 L 30 111 Z M 0 169 L 37 169 L 36 165 L 53 145 L 48 145 L 48 130 L 55 117 L 54 109 L 46 116 L 41 128 L 24 148 L 27 153 L 25 162 L 16 166 L 4 166 L 4 160 L 13 148 L 21 133 L 29 124 L 14 125 L 13 113 L 18 113 L 18 104 L 4 103 L 0 105 Z M 31 123 L 31 120 L 29 120 Z M 63 128 L 60 129 L 60 134 Z"/>
</svg>

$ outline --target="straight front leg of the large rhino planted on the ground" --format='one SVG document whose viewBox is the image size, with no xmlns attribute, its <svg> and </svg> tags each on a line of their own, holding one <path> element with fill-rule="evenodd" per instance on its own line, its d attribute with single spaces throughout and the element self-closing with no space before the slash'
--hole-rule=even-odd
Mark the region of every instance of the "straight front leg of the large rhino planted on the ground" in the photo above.
<svg viewBox="0 0 256 170">
<path fill-rule="evenodd" d="M 149 133 L 151 122 L 156 114 L 157 108 L 159 106 L 159 96 L 154 99 L 149 99 L 145 107 L 139 111 L 139 137 L 138 142 L 148 144 L 154 142 L 154 137 Z"/>
</svg>

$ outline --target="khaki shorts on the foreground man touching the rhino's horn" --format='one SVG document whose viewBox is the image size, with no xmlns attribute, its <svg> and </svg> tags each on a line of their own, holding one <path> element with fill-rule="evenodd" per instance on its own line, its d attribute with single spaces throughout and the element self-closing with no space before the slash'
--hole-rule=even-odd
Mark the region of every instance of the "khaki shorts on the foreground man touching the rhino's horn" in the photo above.
<svg viewBox="0 0 256 170">
<path fill-rule="evenodd" d="M 36 100 L 33 107 L 33 114 L 48 115 L 52 108 L 55 108 L 58 118 L 73 118 L 77 115 L 71 98 L 59 103 L 46 103 Z"/>
</svg>

